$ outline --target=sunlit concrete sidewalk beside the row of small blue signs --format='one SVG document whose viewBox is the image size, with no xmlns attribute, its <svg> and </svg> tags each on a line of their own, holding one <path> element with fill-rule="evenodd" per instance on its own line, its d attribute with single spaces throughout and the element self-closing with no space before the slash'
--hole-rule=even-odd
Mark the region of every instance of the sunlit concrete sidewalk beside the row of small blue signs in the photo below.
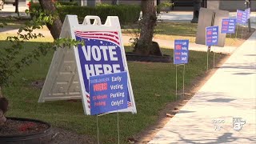
<svg viewBox="0 0 256 144">
<path fill-rule="evenodd" d="M 255 87 L 256 32 L 150 143 L 256 143 Z"/>
</svg>

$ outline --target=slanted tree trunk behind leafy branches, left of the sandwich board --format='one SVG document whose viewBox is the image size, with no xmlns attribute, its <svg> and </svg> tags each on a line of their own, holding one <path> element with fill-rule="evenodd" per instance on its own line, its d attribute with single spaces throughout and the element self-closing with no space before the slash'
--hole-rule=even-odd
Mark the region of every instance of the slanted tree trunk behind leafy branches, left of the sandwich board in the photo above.
<svg viewBox="0 0 256 144">
<path fill-rule="evenodd" d="M 52 1 L 39 0 L 39 3 L 42 6 L 42 9 L 46 10 L 50 14 L 54 14 L 54 12 L 57 11 L 56 7 L 54 6 L 54 2 Z M 54 18 L 53 25 L 47 25 L 47 27 L 54 39 L 59 38 L 59 34 L 61 34 L 62 31 L 62 22 L 58 16 Z"/>
</svg>

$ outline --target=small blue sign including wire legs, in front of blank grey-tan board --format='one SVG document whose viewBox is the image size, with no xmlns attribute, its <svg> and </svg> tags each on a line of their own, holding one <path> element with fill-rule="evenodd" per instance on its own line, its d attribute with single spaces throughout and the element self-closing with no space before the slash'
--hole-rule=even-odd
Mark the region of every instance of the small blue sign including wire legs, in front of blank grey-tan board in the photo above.
<svg viewBox="0 0 256 144">
<path fill-rule="evenodd" d="M 207 70 L 209 65 L 209 52 L 210 52 L 210 46 L 214 46 L 218 44 L 218 26 L 209 26 L 206 27 L 206 46 L 208 46 L 207 50 Z M 215 52 L 214 52 L 215 57 Z M 214 58 L 215 61 L 215 58 Z M 214 63 L 215 68 L 215 63 Z"/>
</svg>

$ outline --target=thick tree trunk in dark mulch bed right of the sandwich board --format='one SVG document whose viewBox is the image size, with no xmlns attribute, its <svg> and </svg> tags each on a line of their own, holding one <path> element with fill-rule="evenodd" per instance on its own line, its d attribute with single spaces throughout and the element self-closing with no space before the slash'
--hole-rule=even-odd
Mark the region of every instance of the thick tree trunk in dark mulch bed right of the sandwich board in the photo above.
<svg viewBox="0 0 256 144">
<path fill-rule="evenodd" d="M 154 26 L 156 26 L 157 16 L 154 1 L 142 1 L 142 20 L 141 33 L 136 46 L 134 47 L 135 54 L 142 55 L 162 55 L 157 42 L 152 42 L 154 34 Z"/>
</svg>

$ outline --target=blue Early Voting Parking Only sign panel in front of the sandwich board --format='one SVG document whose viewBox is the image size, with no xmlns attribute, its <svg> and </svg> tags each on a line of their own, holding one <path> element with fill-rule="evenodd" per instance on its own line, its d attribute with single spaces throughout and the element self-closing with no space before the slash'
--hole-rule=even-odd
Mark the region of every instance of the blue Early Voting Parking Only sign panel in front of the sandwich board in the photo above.
<svg viewBox="0 0 256 144">
<path fill-rule="evenodd" d="M 90 114 L 127 108 L 127 72 L 90 77 Z"/>
</svg>

